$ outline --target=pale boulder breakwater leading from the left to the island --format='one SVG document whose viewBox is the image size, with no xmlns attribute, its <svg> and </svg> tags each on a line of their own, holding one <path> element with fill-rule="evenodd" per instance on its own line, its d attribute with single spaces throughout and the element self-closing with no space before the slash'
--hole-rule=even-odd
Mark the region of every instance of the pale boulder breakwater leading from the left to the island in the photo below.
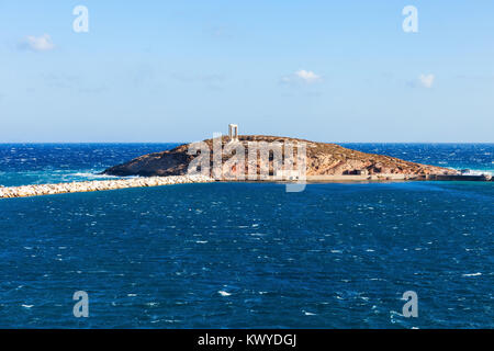
<svg viewBox="0 0 494 351">
<path fill-rule="evenodd" d="M 131 179 L 98 180 L 58 184 L 34 184 L 0 188 L 0 199 L 80 193 L 126 188 L 161 186 L 186 183 L 209 183 L 214 180 L 201 174 L 170 177 L 138 177 Z"/>
</svg>

